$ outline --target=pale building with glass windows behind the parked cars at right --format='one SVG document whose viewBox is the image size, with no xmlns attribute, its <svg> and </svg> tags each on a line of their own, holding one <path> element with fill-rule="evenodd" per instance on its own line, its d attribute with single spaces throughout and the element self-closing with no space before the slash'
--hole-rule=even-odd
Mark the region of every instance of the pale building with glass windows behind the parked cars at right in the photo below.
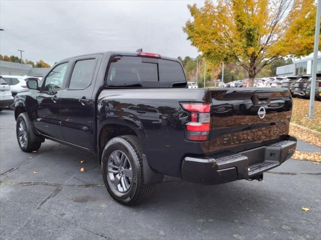
<svg viewBox="0 0 321 240">
<path fill-rule="evenodd" d="M 276 67 L 277 76 L 301 75 L 312 73 L 313 57 L 295 60 L 293 64 Z M 318 56 L 316 71 L 321 71 L 321 56 Z"/>
</svg>

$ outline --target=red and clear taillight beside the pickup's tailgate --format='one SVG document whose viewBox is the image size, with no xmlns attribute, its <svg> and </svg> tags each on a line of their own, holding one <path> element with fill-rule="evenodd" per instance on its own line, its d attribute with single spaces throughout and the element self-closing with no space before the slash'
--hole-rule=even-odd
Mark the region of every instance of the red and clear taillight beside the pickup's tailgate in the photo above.
<svg viewBox="0 0 321 240">
<path fill-rule="evenodd" d="M 207 141 L 210 132 L 210 103 L 182 103 L 189 112 L 185 138 L 191 141 Z"/>
</svg>

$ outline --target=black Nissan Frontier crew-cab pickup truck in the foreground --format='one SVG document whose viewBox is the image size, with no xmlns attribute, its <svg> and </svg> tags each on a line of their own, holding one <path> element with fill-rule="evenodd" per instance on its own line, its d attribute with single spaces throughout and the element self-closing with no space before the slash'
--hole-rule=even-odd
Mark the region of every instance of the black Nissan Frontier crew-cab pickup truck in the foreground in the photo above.
<svg viewBox="0 0 321 240">
<path fill-rule="evenodd" d="M 159 54 L 71 57 L 27 85 L 15 97 L 20 148 L 47 138 L 95 153 L 107 190 L 124 204 L 145 199 L 164 175 L 261 180 L 296 147 L 288 89 L 188 89 L 182 64 Z"/>
</svg>

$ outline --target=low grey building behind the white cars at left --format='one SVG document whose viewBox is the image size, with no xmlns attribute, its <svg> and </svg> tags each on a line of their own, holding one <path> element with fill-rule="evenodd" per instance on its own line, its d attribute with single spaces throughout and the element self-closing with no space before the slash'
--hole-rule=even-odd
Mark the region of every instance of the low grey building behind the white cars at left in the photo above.
<svg viewBox="0 0 321 240">
<path fill-rule="evenodd" d="M 1 75 L 27 75 L 27 76 L 44 76 L 50 68 L 48 67 L 32 67 L 31 64 L 21 64 L 11 61 L 0 60 Z"/>
</svg>

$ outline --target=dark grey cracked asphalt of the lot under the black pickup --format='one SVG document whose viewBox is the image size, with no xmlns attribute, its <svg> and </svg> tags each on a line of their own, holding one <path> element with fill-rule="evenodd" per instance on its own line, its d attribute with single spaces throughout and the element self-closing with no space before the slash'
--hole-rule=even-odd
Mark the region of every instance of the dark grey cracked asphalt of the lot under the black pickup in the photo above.
<svg viewBox="0 0 321 240">
<path fill-rule="evenodd" d="M 0 112 L 0 141 L 0 239 L 321 238 L 321 165 L 312 162 L 288 160 L 261 182 L 166 177 L 128 207 L 107 193 L 92 154 L 49 140 L 22 152 L 11 110 Z"/>
</svg>

